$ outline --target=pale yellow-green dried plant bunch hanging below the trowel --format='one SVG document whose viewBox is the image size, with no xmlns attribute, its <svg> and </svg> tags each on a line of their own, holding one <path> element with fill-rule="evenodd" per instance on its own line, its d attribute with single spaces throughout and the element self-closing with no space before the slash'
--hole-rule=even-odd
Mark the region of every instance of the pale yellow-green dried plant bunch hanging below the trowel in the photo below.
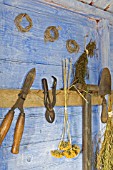
<svg viewBox="0 0 113 170">
<path fill-rule="evenodd" d="M 108 118 L 104 140 L 97 154 L 98 170 L 113 170 L 113 116 Z"/>
</svg>

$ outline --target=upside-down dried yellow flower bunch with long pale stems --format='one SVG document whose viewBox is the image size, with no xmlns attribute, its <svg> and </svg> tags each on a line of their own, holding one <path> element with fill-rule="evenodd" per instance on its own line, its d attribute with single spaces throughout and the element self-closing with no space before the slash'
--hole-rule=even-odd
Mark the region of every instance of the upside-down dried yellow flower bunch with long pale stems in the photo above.
<svg viewBox="0 0 113 170">
<path fill-rule="evenodd" d="M 68 121 L 68 111 L 67 111 L 67 87 L 66 84 L 69 85 L 69 83 L 66 83 L 67 78 L 67 67 L 68 61 L 65 60 L 63 62 L 63 70 L 64 70 L 64 94 L 65 94 L 65 109 L 64 109 L 64 128 L 62 132 L 62 138 L 58 145 L 58 149 L 51 151 L 51 155 L 55 158 L 62 158 L 65 156 L 66 158 L 74 158 L 80 153 L 80 147 L 77 145 L 72 145 L 71 142 L 71 134 L 70 134 L 70 125 Z M 70 62 L 70 68 L 71 68 L 71 62 Z M 69 80 L 69 78 L 68 78 Z M 68 86 L 69 87 L 69 86 Z M 65 133 L 67 132 L 68 140 L 65 141 Z"/>
</svg>

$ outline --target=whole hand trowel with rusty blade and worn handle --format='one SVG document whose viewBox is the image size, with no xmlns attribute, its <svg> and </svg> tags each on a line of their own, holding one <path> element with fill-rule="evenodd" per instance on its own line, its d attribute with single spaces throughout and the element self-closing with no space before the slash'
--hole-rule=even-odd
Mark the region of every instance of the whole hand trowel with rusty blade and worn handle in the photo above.
<svg viewBox="0 0 113 170">
<path fill-rule="evenodd" d="M 108 108 L 105 95 L 111 94 L 111 75 L 108 68 L 104 68 L 101 74 L 100 84 L 99 84 L 99 94 L 102 97 L 102 112 L 101 112 L 101 122 L 106 123 L 108 119 Z"/>
</svg>

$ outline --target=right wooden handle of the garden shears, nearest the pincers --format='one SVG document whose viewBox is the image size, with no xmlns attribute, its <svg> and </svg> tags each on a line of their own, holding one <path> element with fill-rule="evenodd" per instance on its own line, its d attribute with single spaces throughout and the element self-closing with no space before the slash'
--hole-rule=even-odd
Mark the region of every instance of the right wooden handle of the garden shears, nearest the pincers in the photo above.
<svg viewBox="0 0 113 170">
<path fill-rule="evenodd" d="M 11 150 L 13 154 L 19 153 L 19 146 L 24 131 L 24 123 L 25 123 L 25 113 L 20 113 L 14 132 L 14 140 L 13 140 L 13 146 Z"/>
</svg>

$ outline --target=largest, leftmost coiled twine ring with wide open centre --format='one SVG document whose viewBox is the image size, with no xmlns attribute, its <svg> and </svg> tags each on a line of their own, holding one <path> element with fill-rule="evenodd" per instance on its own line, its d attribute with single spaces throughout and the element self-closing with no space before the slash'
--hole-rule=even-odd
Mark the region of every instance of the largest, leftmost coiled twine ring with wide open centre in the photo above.
<svg viewBox="0 0 113 170">
<path fill-rule="evenodd" d="M 25 28 L 22 27 L 21 24 L 20 24 L 20 23 L 22 22 L 22 19 L 23 19 L 24 17 L 25 17 L 26 20 L 29 22 L 29 25 L 26 26 Z M 16 25 L 16 27 L 18 28 L 18 30 L 19 30 L 20 32 L 28 32 L 28 31 L 32 28 L 32 26 L 33 26 L 32 19 L 31 19 L 31 18 L 29 17 L 29 15 L 27 15 L 26 13 L 19 14 L 19 15 L 15 18 L 14 22 L 15 22 L 15 25 Z"/>
</svg>

